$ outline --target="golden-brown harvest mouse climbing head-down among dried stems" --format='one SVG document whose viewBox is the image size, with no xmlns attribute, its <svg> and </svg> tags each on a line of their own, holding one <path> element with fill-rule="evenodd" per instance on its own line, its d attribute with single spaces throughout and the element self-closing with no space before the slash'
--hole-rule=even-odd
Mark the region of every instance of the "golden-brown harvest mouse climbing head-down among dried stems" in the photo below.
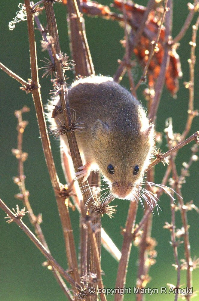
<svg viewBox="0 0 199 301">
<path fill-rule="evenodd" d="M 150 163 L 154 129 L 142 105 L 111 77 L 89 76 L 76 80 L 68 91 L 82 129 L 75 132 L 83 166 L 76 179 L 99 170 L 112 195 L 133 200 L 135 187 Z M 59 97 L 54 105 L 60 106 Z M 55 118 L 63 122 L 62 113 Z M 60 137 L 68 145 L 66 135 Z M 68 148 L 69 149 L 69 148 Z"/>
</svg>

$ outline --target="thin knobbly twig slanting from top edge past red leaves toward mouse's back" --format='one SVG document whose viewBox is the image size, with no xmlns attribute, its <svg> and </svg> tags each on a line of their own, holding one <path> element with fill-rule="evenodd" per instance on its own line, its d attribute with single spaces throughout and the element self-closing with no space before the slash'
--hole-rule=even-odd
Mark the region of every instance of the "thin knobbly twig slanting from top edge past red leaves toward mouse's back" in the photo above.
<svg viewBox="0 0 199 301">
<path fill-rule="evenodd" d="M 160 21 L 160 26 L 158 28 L 158 33 L 157 33 L 157 38 L 156 38 L 156 41 L 152 41 L 151 42 L 151 46 L 152 46 L 152 50 L 151 50 L 151 53 L 149 55 L 149 58 L 148 58 L 148 61 L 146 63 L 146 66 L 144 68 L 144 71 L 143 71 L 143 74 L 139 80 L 139 82 L 137 83 L 136 87 L 135 87 L 135 90 L 137 90 L 137 88 L 139 88 L 140 84 L 143 82 L 143 80 L 145 80 L 145 77 L 146 77 L 146 74 L 148 72 L 148 67 L 151 63 L 151 60 L 155 54 L 155 49 L 158 48 L 158 42 L 159 42 L 159 39 L 160 39 L 160 33 L 161 33 L 161 30 L 162 30 L 162 26 L 163 26 L 163 23 L 164 23 L 164 18 L 165 18 L 165 15 L 166 15 L 166 12 L 167 12 L 167 4 L 168 4 L 168 0 L 165 0 L 165 3 L 164 3 L 164 11 L 162 13 L 162 16 L 161 16 L 161 21 Z"/>
</svg>

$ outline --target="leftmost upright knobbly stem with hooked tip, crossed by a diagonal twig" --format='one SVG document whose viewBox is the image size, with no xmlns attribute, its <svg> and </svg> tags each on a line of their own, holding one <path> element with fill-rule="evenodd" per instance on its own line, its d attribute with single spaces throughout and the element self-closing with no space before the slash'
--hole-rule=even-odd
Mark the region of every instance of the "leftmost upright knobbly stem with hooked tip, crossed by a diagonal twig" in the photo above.
<svg viewBox="0 0 199 301">
<path fill-rule="evenodd" d="M 32 207 L 29 203 L 28 193 L 27 193 L 26 187 L 25 187 L 25 177 L 24 177 L 23 159 L 22 159 L 22 156 L 23 156 L 22 143 L 23 143 L 23 133 L 24 133 L 25 126 L 23 125 L 22 113 L 23 112 L 28 112 L 28 111 L 29 111 L 29 108 L 27 108 L 27 107 L 23 107 L 23 109 L 15 111 L 15 116 L 18 119 L 18 124 L 17 124 L 17 132 L 18 132 L 17 149 L 19 151 L 19 156 L 17 156 L 17 159 L 18 159 L 18 176 L 19 176 L 19 179 L 20 179 L 19 189 L 20 189 L 21 194 L 23 195 L 23 199 L 22 199 L 23 205 L 28 210 L 29 220 L 30 220 L 33 228 L 35 229 L 35 234 L 37 235 L 37 237 L 38 237 L 39 241 L 41 242 L 41 244 L 43 244 L 43 246 L 46 248 L 46 250 L 50 253 L 47 242 L 44 238 L 44 234 L 41 230 L 40 222 L 38 220 L 39 217 L 36 217 L 34 215 L 33 211 L 32 211 Z M 57 282 L 60 284 L 60 287 L 64 291 L 65 295 L 69 299 L 72 299 L 72 295 L 71 295 L 68 287 L 64 283 L 62 277 L 60 276 L 60 273 L 54 267 L 52 267 L 52 268 L 53 268 L 53 272 L 54 272 L 53 275 L 57 279 Z"/>
</svg>

